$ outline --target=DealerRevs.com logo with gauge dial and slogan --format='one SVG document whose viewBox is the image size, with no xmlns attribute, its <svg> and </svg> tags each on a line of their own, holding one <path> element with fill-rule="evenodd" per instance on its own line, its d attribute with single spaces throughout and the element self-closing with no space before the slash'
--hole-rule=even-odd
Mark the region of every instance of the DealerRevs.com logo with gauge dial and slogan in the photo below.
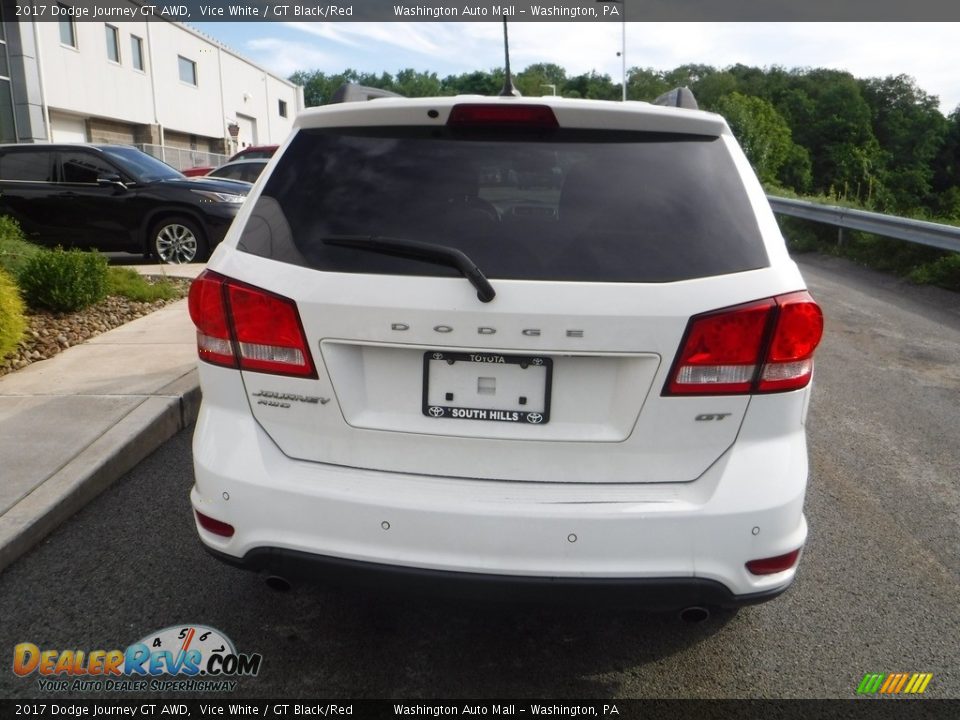
<svg viewBox="0 0 960 720">
<path fill-rule="evenodd" d="M 37 689 L 45 692 L 229 692 L 234 678 L 256 676 L 262 661 L 259 653 L 238 653 L 230 638 L 205 625 L 173 625 L 126 650 L 54 650 L 29 642 L 13 649 L 13 672 L 36 673 Z"/>
</svg>

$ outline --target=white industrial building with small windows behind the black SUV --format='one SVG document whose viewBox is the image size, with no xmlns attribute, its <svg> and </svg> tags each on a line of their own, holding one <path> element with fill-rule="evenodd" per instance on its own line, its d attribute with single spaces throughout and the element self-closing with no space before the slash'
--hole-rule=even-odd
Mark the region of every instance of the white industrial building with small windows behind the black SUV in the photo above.
<svg viewBox="0 0 960 720">
<path fill-rule="evenodd" d="M 0 11 L 2 142 L 123 143 L 183 169 L 282 142 L 303 108 L 301 87 L 182 23 Z"/>
</svg>

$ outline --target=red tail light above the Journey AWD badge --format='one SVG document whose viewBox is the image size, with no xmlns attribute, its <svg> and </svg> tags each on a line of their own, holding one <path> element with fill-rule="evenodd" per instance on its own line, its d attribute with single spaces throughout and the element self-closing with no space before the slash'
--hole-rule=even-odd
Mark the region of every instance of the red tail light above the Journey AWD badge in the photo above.
<svg viewBox="0 0 960 720">
<path fill-rule="evenodd" d="M 296 303 L 204 270 L 190 286 L 200 359 L 214 365 L 317 377 Z"/>
</svg>

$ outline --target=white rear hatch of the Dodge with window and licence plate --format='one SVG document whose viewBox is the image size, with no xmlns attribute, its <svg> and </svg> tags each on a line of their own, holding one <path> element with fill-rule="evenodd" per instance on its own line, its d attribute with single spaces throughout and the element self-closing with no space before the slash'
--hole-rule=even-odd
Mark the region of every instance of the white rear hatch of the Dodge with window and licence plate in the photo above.
<svg viewBox="0 0 960 720">
<path fill-rule="evenodd" d="M 702 474 L 749 396 L 664 394 L 688 322 L 794 289 L 769 268 L 722 121 L 374 104 L 301 120 L 217 258 L 295 303 L 315 364 L 315 377 L 243 372 L 273 441 L 444 477 Z"/>
</svg>

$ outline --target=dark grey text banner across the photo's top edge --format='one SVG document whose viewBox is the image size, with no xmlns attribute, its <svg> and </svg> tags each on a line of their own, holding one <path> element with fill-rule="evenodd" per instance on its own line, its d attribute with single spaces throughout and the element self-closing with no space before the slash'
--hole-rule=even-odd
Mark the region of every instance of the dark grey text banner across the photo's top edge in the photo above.
<svg viewBox="0 0 960 720">
<path fill-rule="evenodd" d="M 957 0 L 18 0 L 17 21 L 124 22 L 957 21 Z M 850 28 L 851 33 L 869 29 Z"/>
</svg>

